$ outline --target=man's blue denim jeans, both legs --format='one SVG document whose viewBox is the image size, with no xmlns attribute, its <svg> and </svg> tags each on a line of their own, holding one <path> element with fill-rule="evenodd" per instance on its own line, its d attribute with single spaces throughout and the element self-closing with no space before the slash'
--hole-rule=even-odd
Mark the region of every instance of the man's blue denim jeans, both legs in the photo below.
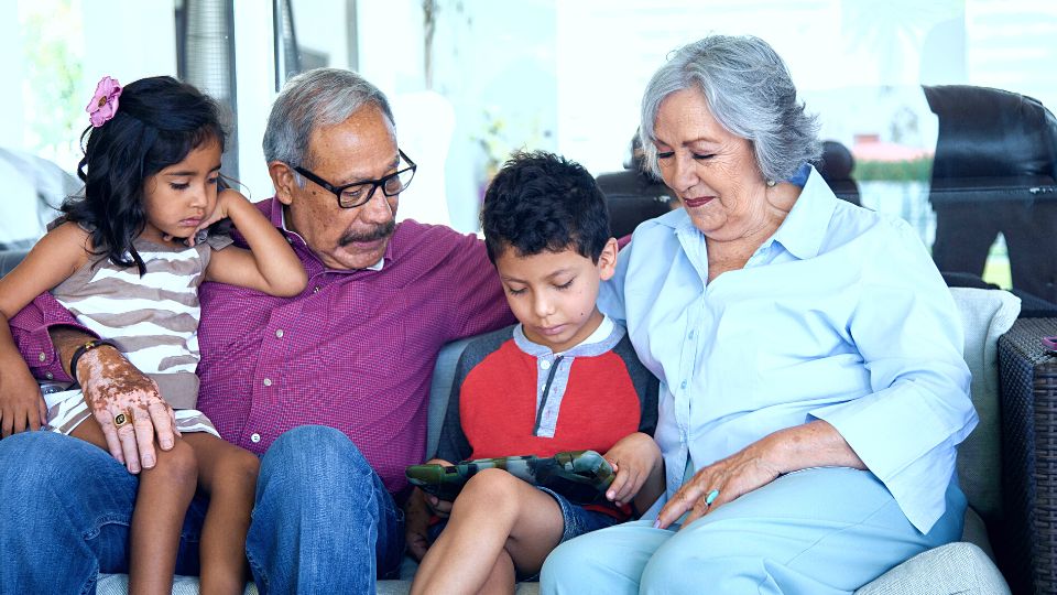
<svg viewBox="0 0 1057 595">
<path fill-rule="evenodd" d="M 137 487 L 86 442 L 52 432 L 0 441 L 0 594 L 95 593 L 100 572 L 128 572 Z M 187 511 L 177 574 L 198 573 L 206 506 L 196 498 Z M 264 455 L 247 540 L 262 593 L 373 593 L 403 550 L 403 512 L 344 434 L 298 428 Z"/>
</svg>

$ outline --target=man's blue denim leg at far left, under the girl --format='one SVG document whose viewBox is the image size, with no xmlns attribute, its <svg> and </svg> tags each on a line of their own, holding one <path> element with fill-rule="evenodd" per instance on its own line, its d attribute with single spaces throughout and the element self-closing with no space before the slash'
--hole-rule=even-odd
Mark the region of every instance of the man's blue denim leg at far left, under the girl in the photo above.
<svg viewBox="0 0 1057 595">
<path fill-rule="evenodd" d="M 108 452 L 23 432 L 0 441 L 0 592 L 89 593 L 100 572 L 128 572 L 139 479 Z M 185 572 L 197 566 L 197 511 L 184 521 Z"/>
</svg>

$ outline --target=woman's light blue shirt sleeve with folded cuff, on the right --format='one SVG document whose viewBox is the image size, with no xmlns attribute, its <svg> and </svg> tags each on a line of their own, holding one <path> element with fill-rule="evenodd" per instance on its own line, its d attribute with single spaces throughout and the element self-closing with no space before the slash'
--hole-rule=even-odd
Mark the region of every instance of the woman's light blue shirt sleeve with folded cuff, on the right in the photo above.
<svg viewBox="0 0 1057 595">
<path fill-rule="evenodd" d="M 954 300 L 920 240 L 886 221 L 848 333 L 872 393 L 811 411 L 833 425 L 927 532 L 946 509 L 956 446 L 977 424 Z"/>
</svg>

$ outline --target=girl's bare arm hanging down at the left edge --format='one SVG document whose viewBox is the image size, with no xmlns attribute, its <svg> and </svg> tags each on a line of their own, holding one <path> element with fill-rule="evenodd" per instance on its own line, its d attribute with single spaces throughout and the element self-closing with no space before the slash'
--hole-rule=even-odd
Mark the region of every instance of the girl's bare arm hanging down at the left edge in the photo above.
<svg viewBox="0 0 1057 595">
<path fill-rule="evenodd" d="M 64 224 L 44 236 L 0 279 L 0 435 L 37 430 L 47 415 L 41 389 L 15 347 L 8 321 L 88 260 L 88 234 Z"/>
</svg>

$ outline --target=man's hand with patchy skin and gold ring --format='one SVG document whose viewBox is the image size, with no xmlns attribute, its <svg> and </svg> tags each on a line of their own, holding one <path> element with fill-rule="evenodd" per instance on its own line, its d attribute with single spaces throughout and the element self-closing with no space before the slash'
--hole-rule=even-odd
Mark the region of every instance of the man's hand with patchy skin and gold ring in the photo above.
<svg viewBox="0 0 1057 595">
<path fill-rule="evenodd" d="M 110 454 L 129 473 L 154 467 L 155 434 L 163 451 L 172 448 L 173 435 L 178 435 L 173 408 L 159 394 L 154 380 L 109 345 L 86 351 L 75 372 Z M 119 414 L 131 415 L 131 423 L 118 428 Z"/>
</svg>

